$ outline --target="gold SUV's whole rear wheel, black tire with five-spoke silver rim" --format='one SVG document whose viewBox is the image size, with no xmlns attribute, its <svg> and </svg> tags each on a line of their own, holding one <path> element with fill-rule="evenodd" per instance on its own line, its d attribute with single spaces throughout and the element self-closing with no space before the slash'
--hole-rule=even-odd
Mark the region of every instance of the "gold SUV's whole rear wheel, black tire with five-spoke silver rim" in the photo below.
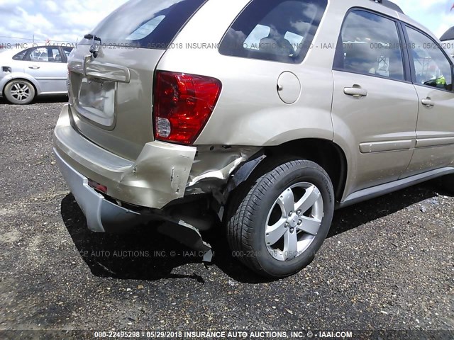
<svg viewBox="0 0 454 340">
<path fill-rule="evenodd" d="M 333 184 L 321 166 L 303 159 L 275 160 L 260 168 L 260 178 L 233 193 L 226 216 L 228 244 L 233 256 L 256 273 L 289 276 L 314 259 L 328 234 Z"/>
</svg>

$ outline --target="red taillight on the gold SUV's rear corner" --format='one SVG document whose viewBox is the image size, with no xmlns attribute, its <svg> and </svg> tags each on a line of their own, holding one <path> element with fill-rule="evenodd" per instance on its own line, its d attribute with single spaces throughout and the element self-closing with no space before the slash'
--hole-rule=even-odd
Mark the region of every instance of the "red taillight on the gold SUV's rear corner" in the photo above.
<svg viewBox="0 0 454 340">
<path fill-rule="evenodd" d="M 221 87 L 221 81 L 211 77 L 157 72 L 155 138 L 186 145 L 194 143 L 216 106 Z"/>
</svg>

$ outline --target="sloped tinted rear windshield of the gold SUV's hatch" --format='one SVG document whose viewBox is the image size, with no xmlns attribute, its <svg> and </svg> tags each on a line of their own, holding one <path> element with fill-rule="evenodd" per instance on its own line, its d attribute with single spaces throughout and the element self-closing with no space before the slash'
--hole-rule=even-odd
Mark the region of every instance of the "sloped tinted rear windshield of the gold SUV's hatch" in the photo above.
<svg viewBox="0 0 454 340">
<path fill-rule="evenodd" d="M 165 50 L 206 0 L 131 0 L 91 32 L 102 45 Z M 89 45 L 84 39 L 79 45 Z"/>
</svg>

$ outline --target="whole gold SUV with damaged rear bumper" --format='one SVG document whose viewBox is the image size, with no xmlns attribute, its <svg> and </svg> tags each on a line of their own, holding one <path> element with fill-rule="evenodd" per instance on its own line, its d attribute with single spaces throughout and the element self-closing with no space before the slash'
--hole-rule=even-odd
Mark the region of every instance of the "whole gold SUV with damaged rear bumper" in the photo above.
<svg viewBox="0 0 454 340">
<path fill-rule="evenodd" d="M 386 0 L 131 0 L 68 69 L 54 151 L 95 232 L 166 220 L 208 260 L 201 232 L 223 225 L 281 277 L 335 208 L 454 189 L 453 60 Z"/>
</svg>

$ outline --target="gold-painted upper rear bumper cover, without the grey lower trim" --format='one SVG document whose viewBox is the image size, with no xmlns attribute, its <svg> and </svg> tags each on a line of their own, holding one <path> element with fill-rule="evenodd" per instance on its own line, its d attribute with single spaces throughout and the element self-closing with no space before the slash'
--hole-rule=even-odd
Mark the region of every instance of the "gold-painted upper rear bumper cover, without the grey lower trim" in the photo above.
<svg viewBox="0 0 454 340">
<path fill-rule="evenodd" d="M 161 209 L 184 196 L 195 147 L 150 142 L 132 162 L 102 149 L 74 130 L 70 110 L 69 105 L 63 107 L 54 130 L 55 154 L 65 169 L 71 169 L 66 170 L 67 174 L 75 171 L 84 179 L 106 186 L 111 198 L 145 208 Z M 68 183 L 82 181 L 75 175 L 66 176 L 69 175 L 65 175 Z"/>
</svg>

